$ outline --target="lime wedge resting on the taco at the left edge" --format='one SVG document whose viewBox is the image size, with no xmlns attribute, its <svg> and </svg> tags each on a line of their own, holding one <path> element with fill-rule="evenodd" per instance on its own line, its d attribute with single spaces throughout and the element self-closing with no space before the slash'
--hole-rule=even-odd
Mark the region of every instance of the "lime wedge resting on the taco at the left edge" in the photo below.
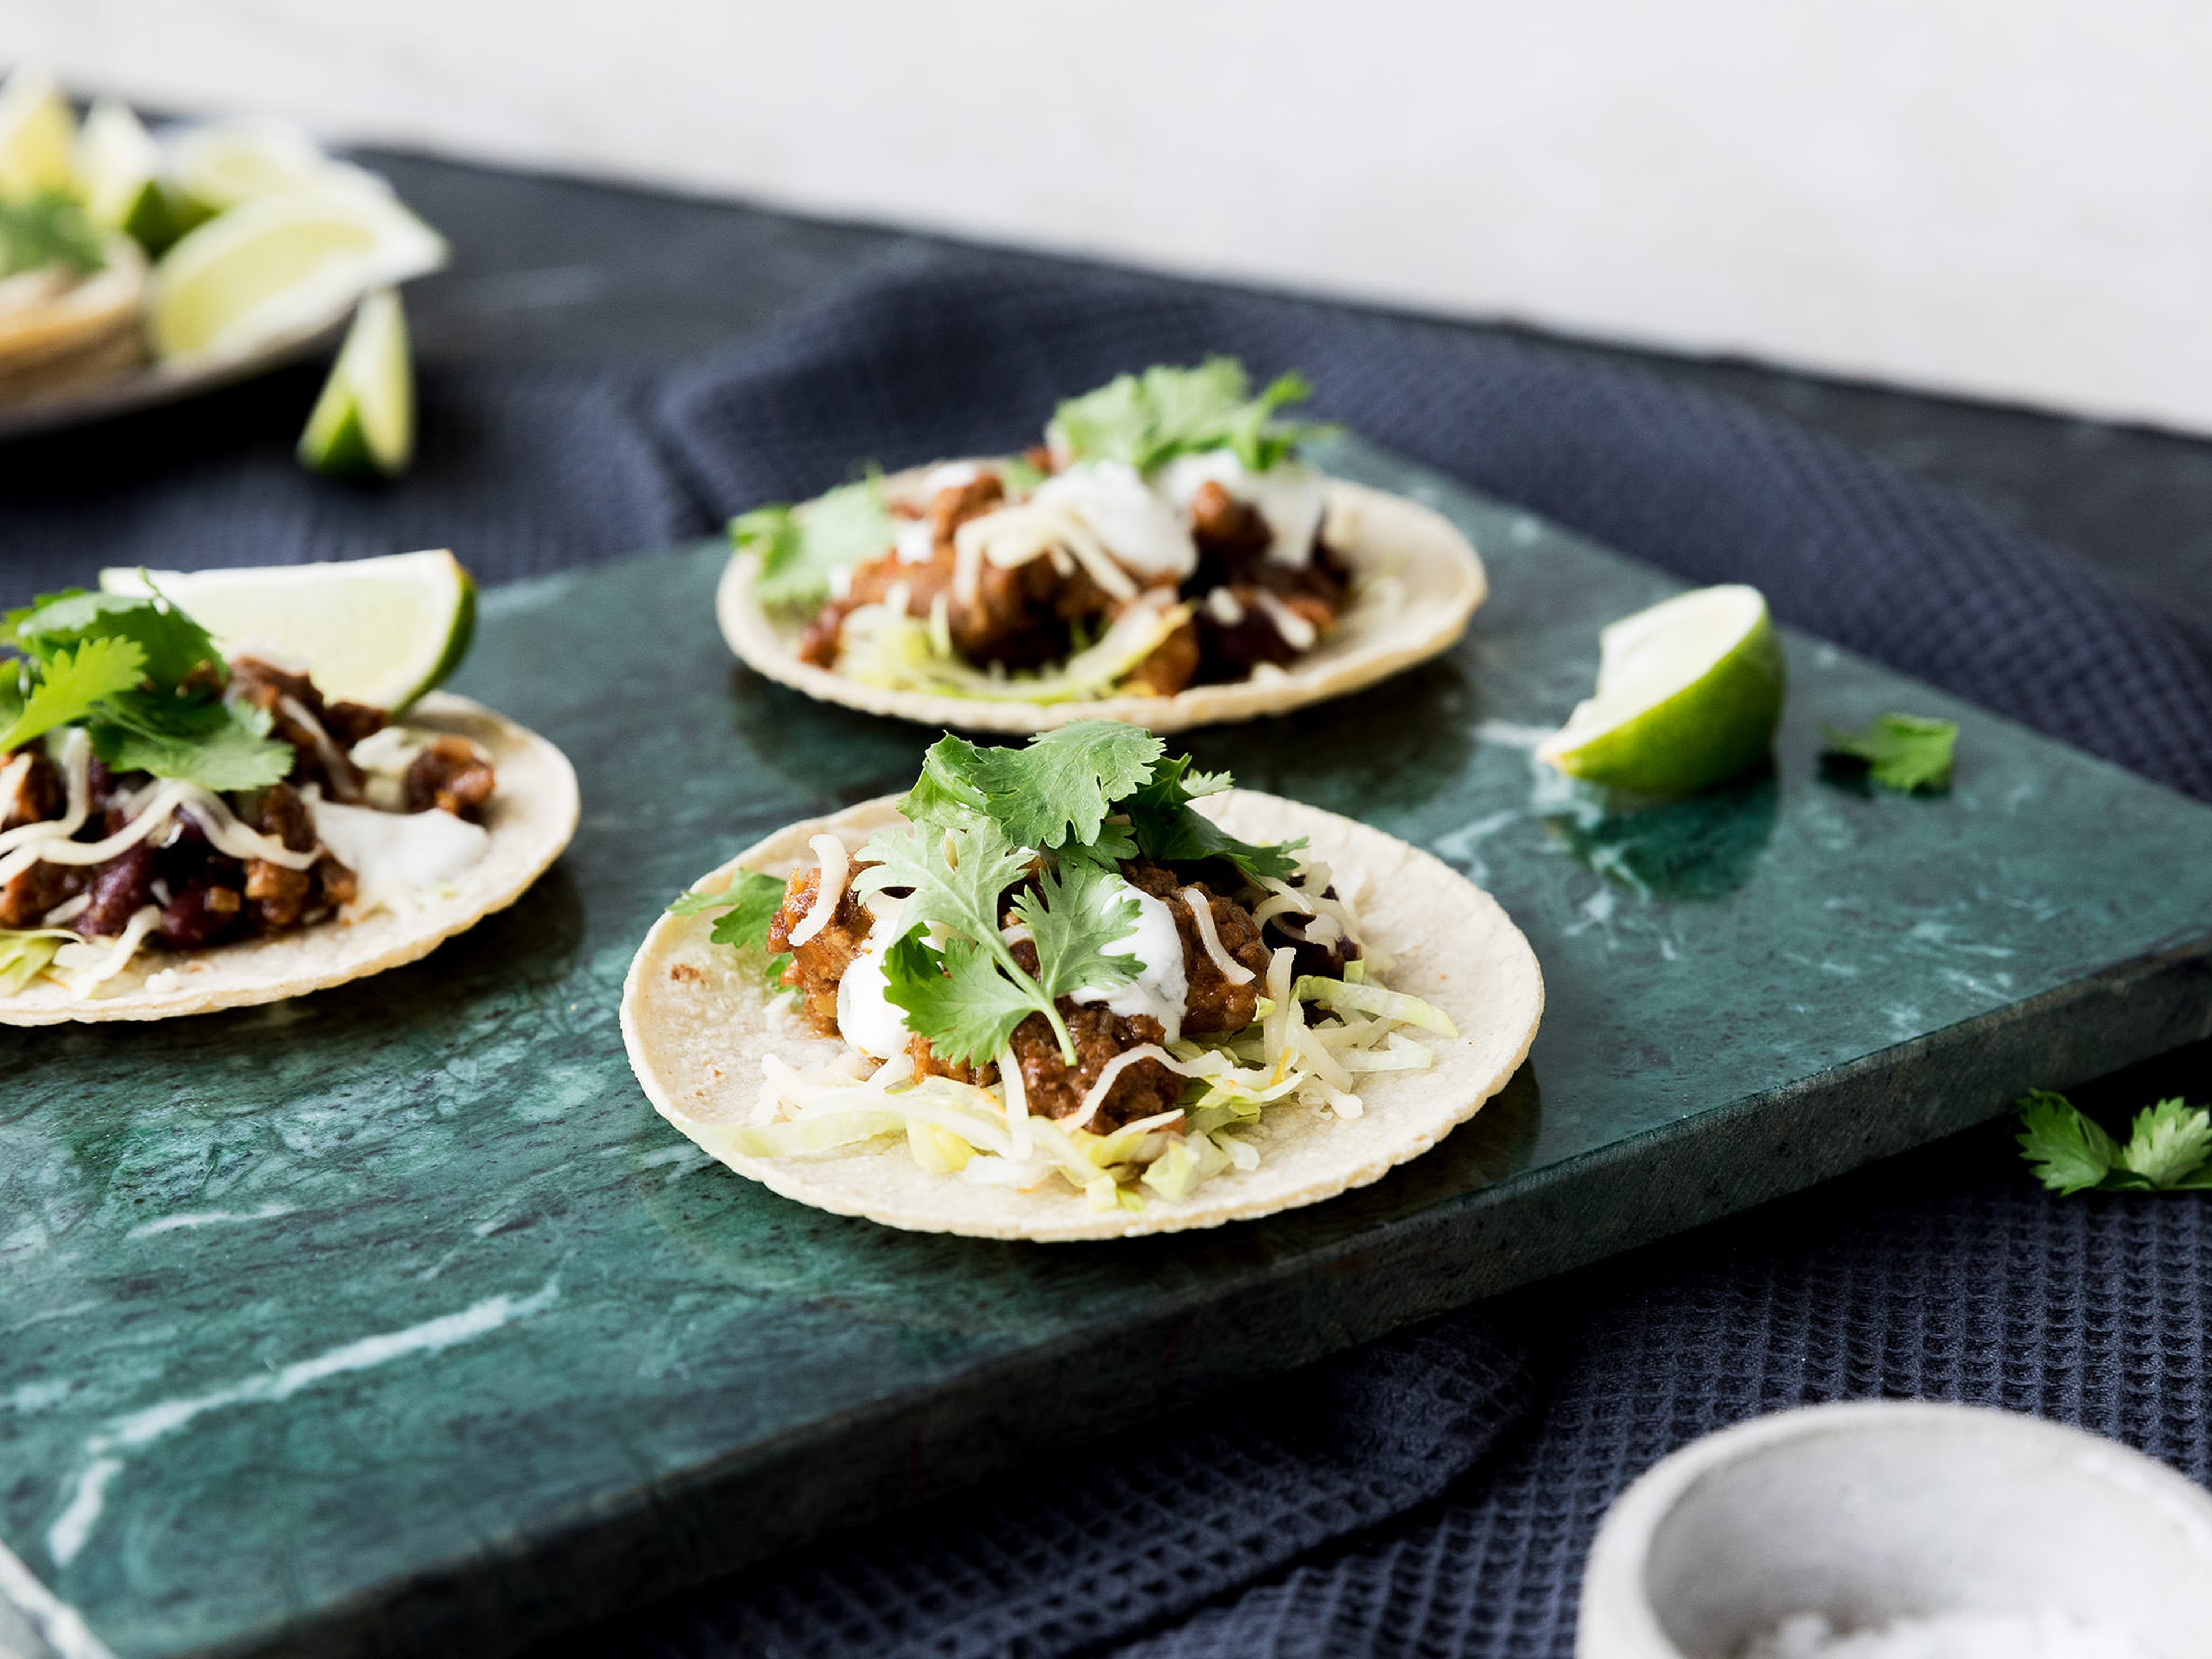
<svg viewBox="0 0 2212 1659">
<path fill-rule="evenodd" d="M 451 553 L 237 571 L 102 571 L 104 593 L 148 582 L 215 635 L 226 657 L 305 668 L 325 697 L 407 708 L 460 666 L 476 582 Z"/>
</svg>

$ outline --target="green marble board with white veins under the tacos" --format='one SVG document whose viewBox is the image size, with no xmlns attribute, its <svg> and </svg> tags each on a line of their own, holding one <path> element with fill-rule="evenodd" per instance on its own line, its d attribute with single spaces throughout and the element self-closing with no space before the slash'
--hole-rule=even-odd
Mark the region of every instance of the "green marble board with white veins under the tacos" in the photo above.
<svg viewBox="0 0 2212 1659">
<path fill-rule="evenodd" d="M 1674 584 L 1369 449 L 1491 562 L 1447 659 L 1206 765 L 1431 847 L 1535 942 L 1515 1084 L 1345 1199 L 1106 1245 L 909 1237 L 706 1164 L 615 1000 L 659 905 L 929 732 L 739 670 L 719 553 L 484 595 L 458 688 L 575 759 L 575 847 L 427 962 L 4 1031 L 0 1652 L 484 1655 L 1117 1418 L 1792 1192 L 2208 1031 L 2212 810 L 1792 635 L 1774 776 L 1533 768 Z M 1964 728 L 1942 799 L 1820 721 Z"/>
</svg>

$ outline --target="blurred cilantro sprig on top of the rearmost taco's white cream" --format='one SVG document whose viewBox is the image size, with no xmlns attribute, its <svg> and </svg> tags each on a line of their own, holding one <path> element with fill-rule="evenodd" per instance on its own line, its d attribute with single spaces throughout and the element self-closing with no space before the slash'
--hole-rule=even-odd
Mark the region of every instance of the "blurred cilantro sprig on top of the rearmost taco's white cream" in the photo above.
<svg viewBox="0 0 2212 1659">
<path fill-rule="evenodd" d="M 1062 403 L 1053 427 L 1073 460 L 1124 460 L 1148 473 L 1177 456 L 1234 449 L 1245 467 L 1267 471 L 1301 440 L 1329 431 L 1276 420 L 1276 409 L 1312 394 L 1305 376 L 1281 374 L 1254 398 L 1243 363 L 1210 356 L 1194 369 L 1155 365 L 1117 376 Z"/>
</svg>

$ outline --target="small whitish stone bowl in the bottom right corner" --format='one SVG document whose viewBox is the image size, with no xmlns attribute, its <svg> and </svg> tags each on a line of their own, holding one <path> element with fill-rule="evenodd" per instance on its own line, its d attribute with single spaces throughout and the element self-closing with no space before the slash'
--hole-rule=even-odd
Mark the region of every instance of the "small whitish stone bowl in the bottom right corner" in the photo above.
<svg viewBox="0 0 2212 1659">
<path fill-rule="evenodd" d="M 1836 1630 L 2068 1615 L 2157 1659 L 2212 1655 L 2212 1495 L 2037 1418 L 1869 1400 L 1723 1429 L 1613 1506 L 1579 1659 L 1732 1659 L 1794 1613 Z"/>
</svg>

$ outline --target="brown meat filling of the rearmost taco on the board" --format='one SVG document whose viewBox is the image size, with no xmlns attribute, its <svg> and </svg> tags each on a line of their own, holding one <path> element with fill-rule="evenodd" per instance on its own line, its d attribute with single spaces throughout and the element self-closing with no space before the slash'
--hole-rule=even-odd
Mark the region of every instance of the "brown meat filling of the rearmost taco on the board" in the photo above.
<svg viewBox="0 0 2212 1659">
<path fill-rule="evenodd" d="M 958 568 L 956 531 L 1006 500 L 991 473 L 940 489 L 929 507 L 907 520 L 927 518 L 931 555 L 925 562 L 885 553 L 852 571 L 845 595 L 827 602 L 799 639 L 801 661 L 834 668 L 845 617 L 858 606 L 883 604 L 905 586 L 907 615 L 931 615 L 947 597 L 947 628 L 953 648 L 975 664 L 1042 668 L 1064 661 L 1082 641 L 1095 639 L 1121 613 L 1097 582 L 1066 555 L 1044 555 L 1011 568 L 984 564 L 975 595 L 953 588 Z M 1126 677 L 1137 695 L 1172 697 L 1197 684 L 1245 679 L 1259 664 L 1287 664 L 1312 641 L 1292 644 L 1283 617 L 1294 617 L 1314 639 L 1329 633 L 1352 593 L 1349 571 L 1327 546 L 1316 544 L 1303 566 L 1267 557 L 1267 522 L 1221 484 L 1201 484 L 1190 504 L 1190 531 L 1199 546 L 1199 568 L 1181 586 L 1194 615 L 1152 648 Z"/>
</svg>

